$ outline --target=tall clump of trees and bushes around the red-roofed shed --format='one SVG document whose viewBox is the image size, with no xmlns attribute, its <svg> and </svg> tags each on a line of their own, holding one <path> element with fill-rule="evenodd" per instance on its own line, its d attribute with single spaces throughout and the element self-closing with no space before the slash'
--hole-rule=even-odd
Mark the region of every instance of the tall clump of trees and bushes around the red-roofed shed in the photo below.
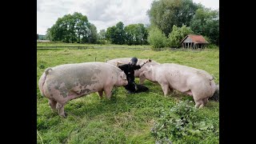
<svg viewBox="0 0 256 144">
<path fill-rule="evenodd" d="M 202 35 L 219 45 L 219 11 L 192 0 L 159 0 L 147 11 L 150 17 L 148 42 L 153 48 L 180 47 L 187 34 Z"/>
</svg>

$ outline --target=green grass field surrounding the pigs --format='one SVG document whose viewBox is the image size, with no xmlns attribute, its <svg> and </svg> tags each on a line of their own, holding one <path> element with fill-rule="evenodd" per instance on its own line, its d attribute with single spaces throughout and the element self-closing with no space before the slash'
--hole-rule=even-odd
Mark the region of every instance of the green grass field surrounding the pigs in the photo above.
<svg viewBox="0 0 256 144">
<path fill-rule="evenodd" d="M 59 44 L 65 46 L 64 44 Z M 44 46 L 46 46 L 44 44 Z M 157 62 L 174 62 L 206 70 L 219 78 L 219 51 L 152 51 L 152 50 L 38 50 L 37 78 L 50 66 L 66 63 L 104 62 L 107 58 L 151 58 Z M 138 79 L 136 78 L 136 82 Z M 194 106 L 193 98 L 176 92 L 164 97 L 161 86 L 146 81 L 149 92 L 126 94 L 123 87 L 114 89 L 111 100 L 100 100 L 98 94 L 86 95 L 68 102 L 65 106 L 67 118 L 61 118 L 52 112 L 47 98 L 43 98 L 37 87 L 37 130 L 38 143 L 155 143 L 168 135 L 173 143 L 218 143 L 218 102 L 209 102 L 206 107 L 190 112 Z M 179 106 L 186 102 L 189 108 Z M 155 129 L 157 123 L 168 123 L 174 108 L 180 117 L 190 119 L 189 124 L 176 125 L 169 129 Z M 181 114 L 184 110 L 190 110 Z M 193 115 L 192 115 L 193 114 Z M 192 118 L 193 117 L 193 118 Z M 166 119 L 164 119 L 166 118 Z M 171 117 L 174 118 L 174 117 Z M 170 123 L 172 124 L 172 123 Z M 200 126 L 199 126 L 200 125 Z M 182 127 L 183 126 L 183 127 Z M 174 129 L 175 128 L 175 129 Z M 169 131 L 168 131 L 169 130 Z M 161 142 L 160 142 L 161 143 Z"/>
</svg>

